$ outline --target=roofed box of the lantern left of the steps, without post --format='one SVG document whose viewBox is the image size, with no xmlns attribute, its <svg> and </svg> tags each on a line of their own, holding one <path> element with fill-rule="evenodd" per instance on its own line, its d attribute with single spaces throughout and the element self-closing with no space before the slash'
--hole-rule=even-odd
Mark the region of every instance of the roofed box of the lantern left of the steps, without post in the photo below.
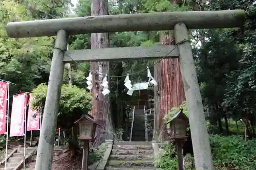
<svg viewBox="0 0 256 170">
<path fill-rule="evenodd" d="M 91 142 L 94 141 L 96 126 L 100 125 L 94 121 L 93 116 L 84 114 L 74 124 L 78 124 L 79 140 L 90 140 Z"/>
</svg>

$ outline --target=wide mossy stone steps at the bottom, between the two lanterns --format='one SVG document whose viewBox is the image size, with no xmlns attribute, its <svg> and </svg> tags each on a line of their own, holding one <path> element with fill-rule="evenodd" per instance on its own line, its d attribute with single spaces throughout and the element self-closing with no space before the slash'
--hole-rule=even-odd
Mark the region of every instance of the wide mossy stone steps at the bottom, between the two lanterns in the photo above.
<svg viewBox="0 0 256 170">
<path fill-rule="evenodd" d="M 151 142 L 119 141 L 113 145 L 106 170 L 154 170 Z"/>
</svg>

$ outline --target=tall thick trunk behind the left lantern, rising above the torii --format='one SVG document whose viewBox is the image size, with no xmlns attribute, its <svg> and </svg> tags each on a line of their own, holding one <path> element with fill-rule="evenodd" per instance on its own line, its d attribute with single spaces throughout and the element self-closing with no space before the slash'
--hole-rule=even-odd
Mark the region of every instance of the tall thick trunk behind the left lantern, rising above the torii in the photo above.
<svg viewBox="0 0 256 170">
<path fill-rule="evenodd" d="M 108 2 L 106 0 L 93 0 L 91 4 L 91 15 L 108 15 Z M 91 34 L 91 49 L 109 47 L 109 34 L 108 33 L 94 33 Z M 91 70 L 98 72 L 102 75 L 109 75 L 109 62 L 92 62 Z M 91 115 L 97 123 L 102 127 L 97 127 L 95 133 L 94 145 L 97 146 L 105 139 L 113 139 L 114 128 L 112 125 L 112 117 L 110 113 L 110 96 L 101 93 L 102 80 L 104 76 L 93 74 L 93 108 Z M 110 81 L 110 79 L 108 79 Z M 109 82 L 110 85 L 110 82 Z"/>
</svg>

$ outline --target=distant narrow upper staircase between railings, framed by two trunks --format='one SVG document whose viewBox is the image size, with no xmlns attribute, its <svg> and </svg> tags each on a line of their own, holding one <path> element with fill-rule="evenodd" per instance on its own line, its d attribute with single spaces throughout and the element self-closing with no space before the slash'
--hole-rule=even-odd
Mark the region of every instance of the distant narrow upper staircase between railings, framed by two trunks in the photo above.
<svg viewBox="0 0 256 170">
<path fill-rule="evenodd" d="M 132 141 L 146 141 L 144 109 L 135 109 Z"/>
</svg>

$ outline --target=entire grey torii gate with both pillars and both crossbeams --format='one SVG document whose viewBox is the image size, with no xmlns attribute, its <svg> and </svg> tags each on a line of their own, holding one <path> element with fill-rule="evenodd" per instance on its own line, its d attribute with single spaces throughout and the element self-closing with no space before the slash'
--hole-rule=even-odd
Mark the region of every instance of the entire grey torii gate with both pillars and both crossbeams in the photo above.
<svg viewBox="0 0 256 170">
<path fill-rule="evenodd" d="M 7 34 L 12 38 L 57 35 L 47 98 L 42 119 L 36 170 L 51 169 L 53 142 L 59 110 L 59 96 L 64 64 L 73 62 L 114 61 L 126 59 L 158 59 L 178 57 L 184 84 L 189 124 L 193 141 L 196 169 L 213 170 L 209 136 L 207 133 L 202 98 L 199 91 L 197 72 L 192 56 L 187 29 L 215 29 L 241 27 L 244 10 L 165 12 L 144 14 L 104 15 L 78 18 L 62 18 L 9 22 Z M 122 47 L 98 50 L 67 51 L 68 35 L 121 31 L 173 30 L 176 45 L 150 47 Z M 176 48 L 177 46 L 177 48 Z"/>
</svg>

